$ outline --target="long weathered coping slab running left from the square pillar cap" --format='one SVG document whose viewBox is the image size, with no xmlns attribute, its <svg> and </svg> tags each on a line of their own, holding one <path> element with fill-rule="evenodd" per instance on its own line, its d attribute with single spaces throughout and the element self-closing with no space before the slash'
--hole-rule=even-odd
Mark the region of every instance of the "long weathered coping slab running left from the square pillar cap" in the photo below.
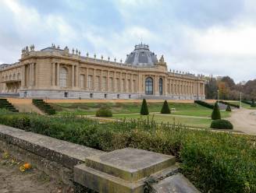
<svg viewBox="0 0 256 193">
<path fill-rule="evenodd" d="M 88 156 L 104 153 L 97 149 L 5 125 L 0 125 L 0 139 L 72 170 L 75 165 L 84 163 Z"/>
</svg>

